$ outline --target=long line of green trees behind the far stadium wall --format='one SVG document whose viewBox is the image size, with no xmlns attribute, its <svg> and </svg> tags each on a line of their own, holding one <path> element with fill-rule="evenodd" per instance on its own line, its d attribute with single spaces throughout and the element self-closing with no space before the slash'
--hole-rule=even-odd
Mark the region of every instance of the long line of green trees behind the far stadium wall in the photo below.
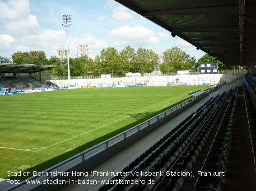
<svg viewBox="0 0 256 191">
<path fill-rule="evenodd" d="M 43 51 L 31 50 L 29 53 L 18 51 L 13 54 L 12 59 L 14 63 L 56 65 L 57 67 L 50 71 L 52 76 L 68 75 L 67 59 L 60 60 L 53 56 L 47 59 Z M 118 52 L 115 48 L 108 47 L 102 49 L 94 60 L 87 56 L 70 58 L 70 76 L 98 76 L 101 74 L 123 76 L 127 72 L 139 72 L 143 76 L 144 73 L 154 71 L 156 59 L 160 62 L 160 71 L 163 73 L 176 73 L 178 70 L 197 71 L 201 63 L 217 62 L 208 54 L 196 61 L 195 56 L 191 57 L 176 46 L 166 49 L 161 56 L 152 49 L 138 48 L 135 50 L 126 46 L 121 52 Z M 233 69 L 222 62 L 218 62 L 218 68 L 219 71 Z"/>
</svg>

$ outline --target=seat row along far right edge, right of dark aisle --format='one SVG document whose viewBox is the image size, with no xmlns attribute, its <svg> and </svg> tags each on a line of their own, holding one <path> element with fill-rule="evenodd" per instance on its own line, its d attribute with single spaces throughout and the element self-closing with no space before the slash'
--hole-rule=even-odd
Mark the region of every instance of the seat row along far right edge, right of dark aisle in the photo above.
<svg viewBox="0 0 256 191">
<path fill-rule="evenodd" d="M 244 90 L 244 98 L 246 103 L 246 110 L 247 110 L 247 117 L 248 117 L 248 123 L 249 123 L 249 129 L 250 129 L 250 136 L 251 136 L 251 148 L 252 148 L 252 154 L 253 154 L 253 161 L 254 166 L 256 167 L 256 107 L 254 105 L 254 101 L 252 98 L 255 98 L 255 93 L 251 91 L 250 95 L 250 89 L 249 86 L 248 90 Z M 256 169 L 255 169 L 255 175 L 256 175 Z"/>
</svg>

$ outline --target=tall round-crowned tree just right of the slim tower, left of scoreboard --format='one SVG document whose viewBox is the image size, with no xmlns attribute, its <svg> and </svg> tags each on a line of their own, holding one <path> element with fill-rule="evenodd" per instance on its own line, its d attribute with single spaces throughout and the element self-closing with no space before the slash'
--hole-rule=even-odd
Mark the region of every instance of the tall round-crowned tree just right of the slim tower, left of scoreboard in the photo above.
<svg viewBox="0 0 256 191">
<path fill-rule="evenodd" d="M 182 49 L 174 46 L 163 52 L 163 62 L 169 68 L 169 71 L 176 73 L 178 69 L 185 66 L 185 55 Z"/>
</svg>

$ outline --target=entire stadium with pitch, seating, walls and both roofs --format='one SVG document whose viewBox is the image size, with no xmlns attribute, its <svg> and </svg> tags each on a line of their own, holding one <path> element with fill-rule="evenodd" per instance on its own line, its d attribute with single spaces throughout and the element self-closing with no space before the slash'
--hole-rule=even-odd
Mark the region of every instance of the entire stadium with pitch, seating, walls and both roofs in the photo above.
<svg viewBox="0 0 256 191">
<path fill-rule="evenodd" d="M 253 1 L 116 1 L 229 65 L 255 66 Z M 0 63 L 1 190 L 255 190 L 255 67 L 104 80 L 50 79 L 54 67 Z"/>
</svg>

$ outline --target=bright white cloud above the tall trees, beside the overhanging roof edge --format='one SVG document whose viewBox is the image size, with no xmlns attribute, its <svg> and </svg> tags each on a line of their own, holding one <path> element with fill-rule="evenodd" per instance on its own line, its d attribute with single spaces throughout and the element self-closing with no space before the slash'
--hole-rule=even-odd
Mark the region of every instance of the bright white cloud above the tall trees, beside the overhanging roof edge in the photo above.
<svg viewBox="0 0 256 191">
<path fill-rule="evenodd" d="M 112 31 L 108 31 L 108 35 L 115 40 L 113 45 L 116 47 L 124 47 L 126 45 L 142 47 L 155 44 L 159 41 L 153 31 L 142 26 L 125 26 L 113 29 Z"/>
</svg>

